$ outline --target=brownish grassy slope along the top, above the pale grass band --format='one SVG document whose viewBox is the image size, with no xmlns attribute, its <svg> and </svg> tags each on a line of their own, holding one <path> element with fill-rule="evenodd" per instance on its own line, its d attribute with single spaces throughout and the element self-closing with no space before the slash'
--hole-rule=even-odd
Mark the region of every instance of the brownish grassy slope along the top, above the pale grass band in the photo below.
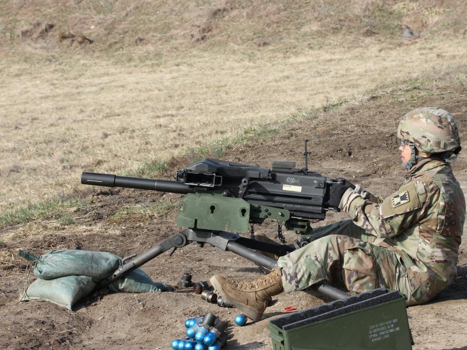
<svg viewBox="0 0 467 350">
<path fill-rule="evenodd" d="M 462 37 L 466 7 L 462 0 L 6 0 L 0 42 L 60 52 L 294 53 L 368 38 Z"/>
</svg>

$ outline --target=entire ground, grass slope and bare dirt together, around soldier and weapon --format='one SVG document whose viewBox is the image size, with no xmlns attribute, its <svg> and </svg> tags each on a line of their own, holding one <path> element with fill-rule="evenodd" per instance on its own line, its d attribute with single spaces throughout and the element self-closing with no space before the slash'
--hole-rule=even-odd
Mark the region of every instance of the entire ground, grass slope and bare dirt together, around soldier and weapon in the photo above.
<svg viewBox="0 0 467 350">
<path fill-rule="evenodd" d="M 82 171 L 168 179 L 206 156 L 302 166 L 306 138 L 311 169 L 390 194 L 404 173 L 394 135 L 404 113 L 439 105 L 465 139 L 466 14 L 462 0 L 1 0 L 0 348 L 165 349 L 180 320 L 231 319 L 187 290 L 95 293 L 75 312 L 18 304 L 17 251 L 128 256 L 173 234 L 180 195 L 99 191 L 80 185 Z M 463 153 L 453 169 L 466 192 Z M 255 228 L 272 237 L 277 225 Z M 203 249 L 144 270 L 172 284 L 185 271 L 257 277 L 232 253 Z M 409 308 L 414 350 L 464 349 L 466 251 L 453 284 Z M 283 296 L 268 316 L 319 303 Z M 269 349 L 268 320 L 234 327 L 228 346 Z"/>
</svg>

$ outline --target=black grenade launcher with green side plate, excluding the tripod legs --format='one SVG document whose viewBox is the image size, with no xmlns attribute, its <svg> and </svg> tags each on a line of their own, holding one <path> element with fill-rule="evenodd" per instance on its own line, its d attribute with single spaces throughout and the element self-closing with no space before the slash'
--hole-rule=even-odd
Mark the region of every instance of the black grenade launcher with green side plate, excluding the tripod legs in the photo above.
<svg viewBox="0 0 467 350">
<path fill-rule="evenodd" d="M 203 159 L 177 172 L 175 181 L 83 173 L 81 183 L 186 194 L 178 203 L 177 225 L 247 233 L 249 224 L 274 219 L 288 230 L 310 231 L 310 219 L 324 219 L 335 180 L 295 162 L 272 169 Z"/>
</svg>

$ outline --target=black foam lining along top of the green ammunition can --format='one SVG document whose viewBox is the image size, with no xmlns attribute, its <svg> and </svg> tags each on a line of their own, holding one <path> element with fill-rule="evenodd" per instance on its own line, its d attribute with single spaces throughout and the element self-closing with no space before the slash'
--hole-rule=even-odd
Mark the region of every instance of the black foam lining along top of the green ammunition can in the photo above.
<svg viewBox="0 0 467 350">
<path fill-rule="evenodd" d="M 374 289 L 347 299 L 335 300 L 323 305 L 284 315 L 270 322 L 284 331 L 316 323 L 332 317 L 345 315 L 400 298 L 397 291 L 389 292 L 384 288 Z"/>
</svg>

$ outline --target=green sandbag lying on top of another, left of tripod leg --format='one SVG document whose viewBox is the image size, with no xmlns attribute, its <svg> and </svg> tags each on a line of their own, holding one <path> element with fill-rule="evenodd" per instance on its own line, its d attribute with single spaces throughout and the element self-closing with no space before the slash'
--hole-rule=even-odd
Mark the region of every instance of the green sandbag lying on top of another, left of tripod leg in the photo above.
<svg viewBox="0 0 467 350">
<path fill-rule="evenodd" d="M 103 280 L 120 265 L 120 259 L 106 252 L 53 250 L 37 258 L 34 276 L 52 280 L 63 276 L 88 276 Z"/>
</svg>

